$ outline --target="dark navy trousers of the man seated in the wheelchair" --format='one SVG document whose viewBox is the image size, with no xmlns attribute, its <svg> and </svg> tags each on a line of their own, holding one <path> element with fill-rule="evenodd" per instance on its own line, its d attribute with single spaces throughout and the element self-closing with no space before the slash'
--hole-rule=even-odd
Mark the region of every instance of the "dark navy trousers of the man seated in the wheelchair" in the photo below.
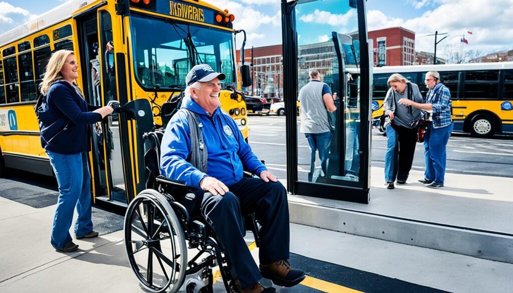
<svg viewBox="0 0 513 293">
<path fill-rule="evenodd" d="M 260 263 L 289 259 L 287 191 L 280 182 L 266 183 L 260 178 L 243 178 L 228 188 L 230 191 L 224 196 L 196 189 L 196 204 L 185 206 L 191 214 L 198 214 L 198 202 L 201 202 L 201 214 L 214 229 L 228 256 L 232 277 L 245 288 L 262 279 L 262 275 L 244 241 L 242 214 L 254 212 L 262 226 Z"/>
</svg>

